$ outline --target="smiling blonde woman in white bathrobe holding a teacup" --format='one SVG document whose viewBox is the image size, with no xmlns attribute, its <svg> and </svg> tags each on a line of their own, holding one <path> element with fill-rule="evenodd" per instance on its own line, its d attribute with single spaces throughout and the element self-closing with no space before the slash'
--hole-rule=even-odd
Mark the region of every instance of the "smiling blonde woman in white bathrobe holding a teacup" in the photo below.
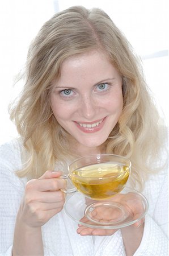
<svg viewBox="0 0 169 256">
<path fill-rule="evenodd" d="M 29 48 L 25 77 L 11 107 L 20 138 L 1 147 L 1 255 L 167 255 L 164 131 L 109 16 L 78 6 L 55 14 Z M 145 222 L 91 229 L 62 210 L 67 164 L 100 152 L 130 158 L 130 187 L 150 205 Z"/>
</svg>

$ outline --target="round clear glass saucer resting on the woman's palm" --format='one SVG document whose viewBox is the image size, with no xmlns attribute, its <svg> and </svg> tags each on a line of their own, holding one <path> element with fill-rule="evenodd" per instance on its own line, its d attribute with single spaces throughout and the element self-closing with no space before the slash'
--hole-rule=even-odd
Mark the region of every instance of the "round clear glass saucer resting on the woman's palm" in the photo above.
<svg viewBox="0 0 169 256">
<path fill-rule="evenodd" d="M 125 187 L 111 199 L 92 200 L 80 192 L 67 198 L 66 214 L 83 226 L 95 229 L 119 229 L 141 220 L 148 203 L 140 192 Z"/>
</svg>

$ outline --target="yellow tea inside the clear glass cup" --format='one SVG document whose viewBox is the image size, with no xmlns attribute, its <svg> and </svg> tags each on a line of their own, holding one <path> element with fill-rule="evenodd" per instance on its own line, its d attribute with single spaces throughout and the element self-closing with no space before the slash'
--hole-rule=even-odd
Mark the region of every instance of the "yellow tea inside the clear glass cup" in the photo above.
<svg viewBox="0 0 169 256">
<path fill-rule="evenodd" d="M 108 162 L 92 164 L 72 172 L 71 181 L 78 191 L 94 200 L 104 200 L 119 193 L 129 177 L 125 165 Z"/>
</svg>

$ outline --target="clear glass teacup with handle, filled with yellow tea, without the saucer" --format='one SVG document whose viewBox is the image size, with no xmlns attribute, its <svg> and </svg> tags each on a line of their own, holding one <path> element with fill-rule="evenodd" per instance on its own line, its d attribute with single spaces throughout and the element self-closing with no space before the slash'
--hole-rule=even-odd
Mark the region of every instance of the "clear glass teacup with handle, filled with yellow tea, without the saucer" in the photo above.
<svg viewBox="0 0 169 256">
<path fill-rule="evenodd" d="M 131 166 L 130 160 L 120 155 L 97 154 L 76 159 L 68 167 L 74 188 L 64 192 L 79 191 L 93 200 L 109 199 L 124 188 Z"/>
</svg>

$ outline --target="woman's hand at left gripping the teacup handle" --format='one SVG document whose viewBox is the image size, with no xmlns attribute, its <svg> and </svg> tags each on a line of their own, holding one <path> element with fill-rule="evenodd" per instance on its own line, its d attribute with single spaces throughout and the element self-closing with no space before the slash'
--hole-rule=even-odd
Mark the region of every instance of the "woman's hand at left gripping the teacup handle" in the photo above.
<svg viewBox="0 0 169 256">
<path fill-rule="evenodd" d="M 50 218 L 60 212 L 65 203 L 66 180 L 61 172 L 47 171 L 39 179 L 29 180 L 20 209 L 19 221 L 30 228 L 43 226 Z"/>
</svg>

